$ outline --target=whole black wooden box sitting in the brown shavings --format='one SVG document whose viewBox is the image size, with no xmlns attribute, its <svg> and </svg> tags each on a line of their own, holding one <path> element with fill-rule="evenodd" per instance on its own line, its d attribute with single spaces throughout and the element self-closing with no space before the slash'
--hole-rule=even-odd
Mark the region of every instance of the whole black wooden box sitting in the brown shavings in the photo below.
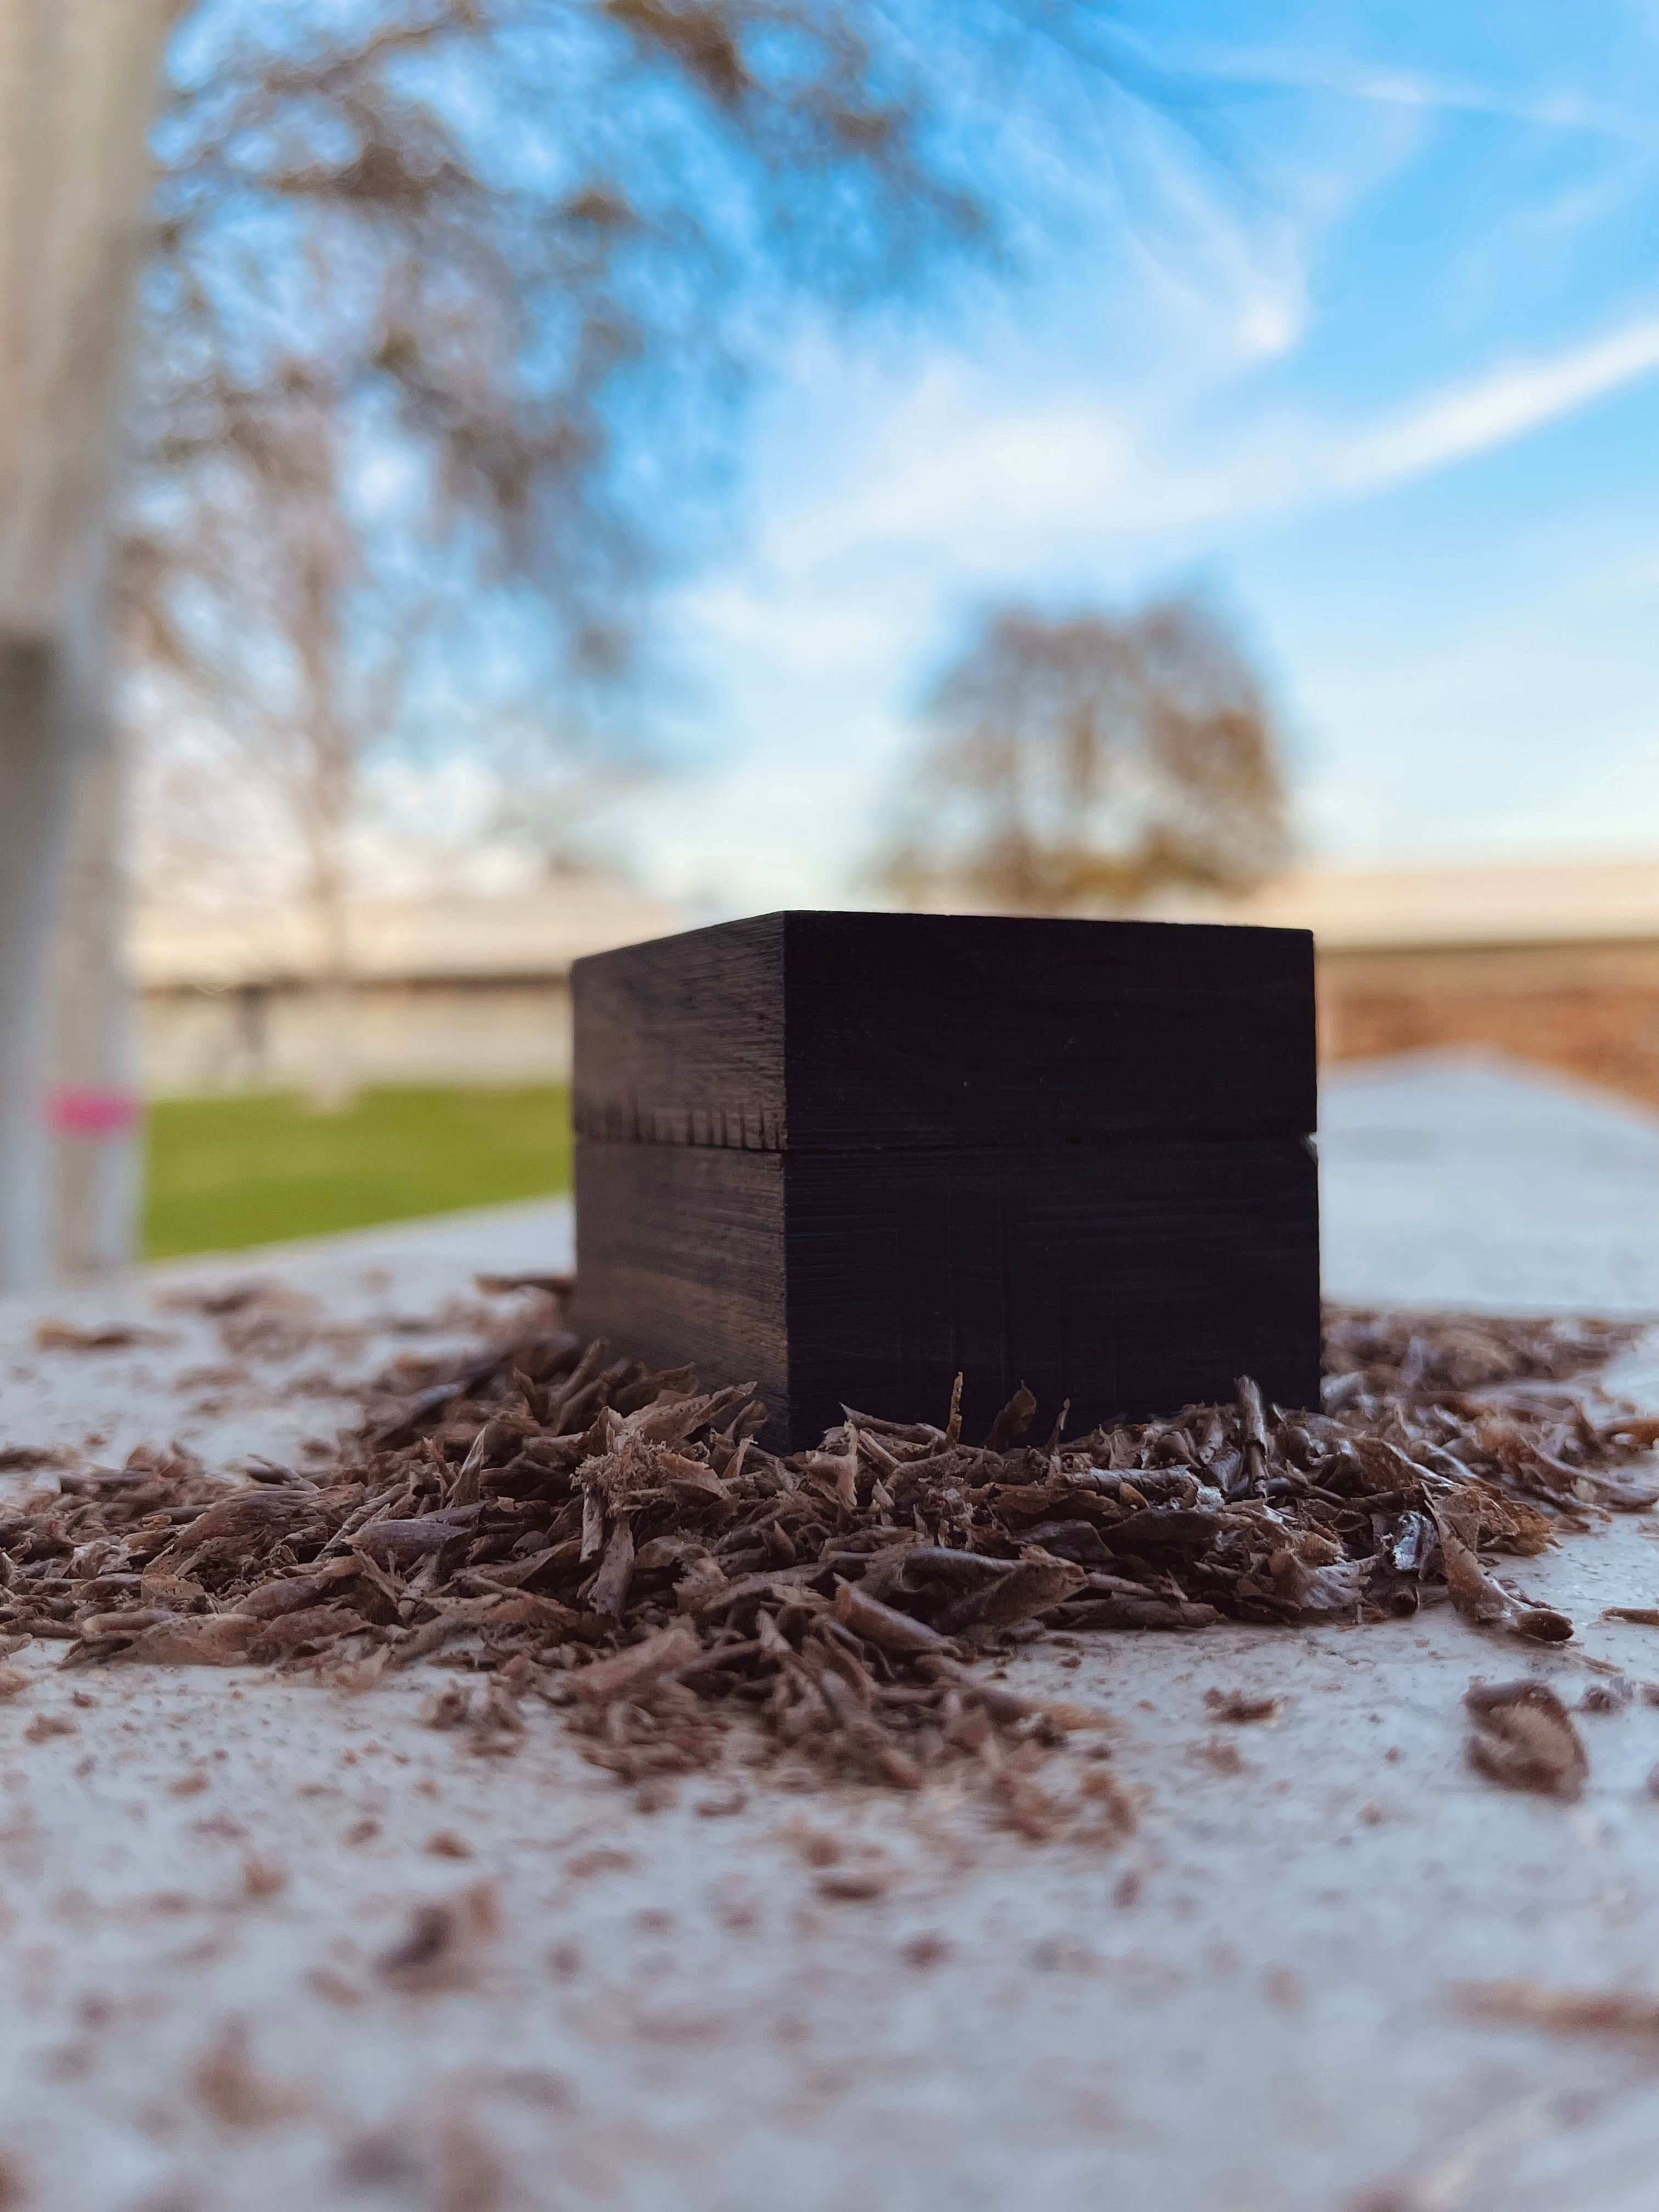
<svg viewBox="0 0 1659 2212">
<path fill-rule="evenodd" d="M 1301 929 L 768 914 L 577 960 L 577 1323 L 763 1440 L 1318 1405 Z"/>
</svg>

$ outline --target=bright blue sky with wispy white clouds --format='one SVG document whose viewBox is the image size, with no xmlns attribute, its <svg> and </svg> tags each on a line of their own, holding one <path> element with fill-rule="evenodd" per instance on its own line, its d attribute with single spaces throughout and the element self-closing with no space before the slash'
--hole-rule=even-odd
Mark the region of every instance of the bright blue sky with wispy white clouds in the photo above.
<svg viewBox="0 0 1659 2212">
<path fill-rule="evenodd" d="M 1121 20 L 1186 119 L 1015 148 L 1015 283 L 792 334 L 668 606 L 646 874 L 845 896 L 975 606 L 1188 582 L 1272 677 L 1310 856 L 1659 858 L 1659 0 Z"/>
</svg>

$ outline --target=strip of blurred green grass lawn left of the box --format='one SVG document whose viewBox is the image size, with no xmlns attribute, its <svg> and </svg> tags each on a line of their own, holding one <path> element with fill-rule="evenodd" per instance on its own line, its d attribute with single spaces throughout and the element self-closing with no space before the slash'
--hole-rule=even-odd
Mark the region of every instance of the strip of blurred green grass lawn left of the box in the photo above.
<svg viewBox="0 0 1659 2212">
<path fill-rule="evenodd" d="M 551 1084 L 365 1091 L 338 1115 L 285 1095 L 159 1099 L 144 1252 L 232 1252 L 568 1190 L 568 1115 Z"/>
</svg>

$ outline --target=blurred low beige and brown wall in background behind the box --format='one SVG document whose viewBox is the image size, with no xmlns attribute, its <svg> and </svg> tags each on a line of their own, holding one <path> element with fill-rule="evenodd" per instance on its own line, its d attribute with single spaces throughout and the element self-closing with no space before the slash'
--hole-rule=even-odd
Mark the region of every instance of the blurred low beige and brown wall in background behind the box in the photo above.
<svg viewBox="0 0 1659 2212">
<path fill-rule="evenodd" d="M 1659 867 L 1303 872 L 1190 920 L 1314 931 L 1321 1053 L 1480 1044 L 1659 1106 Z M 301 918 L 150 909 L 135 938 L 148 1095 L 303 1088 L 321 1020 Z M 615 880 L 352 911 L 356 1077 L 562 1082 L 571 960 L 677 916 Z"/>
</svg>

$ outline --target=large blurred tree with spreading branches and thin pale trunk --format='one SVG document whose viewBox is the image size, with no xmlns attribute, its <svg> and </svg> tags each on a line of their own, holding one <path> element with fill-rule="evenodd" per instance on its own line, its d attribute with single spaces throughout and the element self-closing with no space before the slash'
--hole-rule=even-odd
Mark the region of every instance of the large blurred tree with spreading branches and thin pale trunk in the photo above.
<svg viewBox="0 0 1659 2212">
<path fill-rule="evenodd" d="M 341 1009 L 319 1104 L 352 1086 L 365 759 L 480 739 L 526 659 L 555 743 L 615 759 L 606 699 L 650 577 L 708 533 L 774 310 L 991 243 L 947 128 L 971 29 L 905 15 L 212 0 L 175 42 L 126 635 L 148 717 L 221 726 L 303 843 Z"/>
</svg>

